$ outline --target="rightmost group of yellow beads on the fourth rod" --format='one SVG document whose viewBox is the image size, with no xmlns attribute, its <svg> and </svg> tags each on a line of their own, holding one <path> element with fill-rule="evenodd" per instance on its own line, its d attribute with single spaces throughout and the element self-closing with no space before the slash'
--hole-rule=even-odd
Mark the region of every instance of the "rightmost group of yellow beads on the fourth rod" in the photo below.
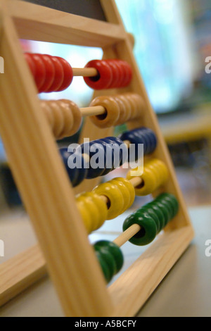
<svg viewBox="0 0 211 331">
<path fill-rule="evenodd" d="M 133 169 L 137 170 L 136 169 Z M 127 173 L 127 179 L 131 180 L 134 178 L 130 170 Z M 137 196 L 143 196 L 153 193 L 158 187 L 165 184 L 168 178 L 168 170 L 165 163 L 158 160 L 157 158 L 153 158 L 150 161 L 144 163 L 143 166 L 143 174 L 140 175 L 143 182 L 138 187 L 135 187 L 135 194 Z"/>
</svg>

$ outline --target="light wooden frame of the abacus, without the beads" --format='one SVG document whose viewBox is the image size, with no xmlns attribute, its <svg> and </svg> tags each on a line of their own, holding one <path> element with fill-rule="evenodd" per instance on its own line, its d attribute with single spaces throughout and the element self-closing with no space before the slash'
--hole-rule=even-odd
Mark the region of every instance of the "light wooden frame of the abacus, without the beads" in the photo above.
<svg viewBox="0 0 211 331">
<path fill-rule="evenodd" d="M 133 316 L 193 238 L 184 199 L 134 60 L 129 35 L 114 0 L 101 0 L 101 6 L 107 23 L 19 0 L 0 0 L 0 54 L 5 60 L 5 73 L 0 80 L 0 132 L 41 247 L 41 251 L 37 246 L 24 252 L 18 262 L 12 258 L 1 265 L 0 304 L 46 272 L 45 258 L 65 316 Z M 19 38 L 98 46 L 103 49 L 104 58 L 128 61 L 134 72 L 132 84 L 118 92 L 139 93 L 146 105 L 140 120 L 128 123 L 128 127 L 150 127 L 158 137 L 153 156 L 165 162 L 170 179 L 153 195 L 170 192 L 177 196 L 179 213 L 158 240 L 108 288 L 75 204 L 75 193 L 91 190 L 99 179 L 86 180 L 72 189 L 41 113 Z M 109 94 L 116 92 L 113 89 Z M 95 92 L 94 96 L 100 94 L 108 91 Z M 112 132 L 113 128 L 94 127 L 87 118 L 81 138 L 98 139 Z"/>
</svg>

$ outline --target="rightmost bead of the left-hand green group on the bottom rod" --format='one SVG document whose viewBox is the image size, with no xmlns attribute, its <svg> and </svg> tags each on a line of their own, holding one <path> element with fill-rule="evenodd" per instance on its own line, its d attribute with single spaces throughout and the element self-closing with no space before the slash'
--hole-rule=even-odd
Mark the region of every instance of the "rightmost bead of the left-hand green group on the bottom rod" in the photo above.
<svg viewBox="0 0 211 331">
<path fill-rule="evenodd" d="M 109 242 L 108 240 L 100 240 L 99 242 L 96 242 L 94 246 L 104 247 L 104 249 L 107 249 L 110 254 L 112 254 L 116 266 L 115 273 L 118 273 L 122 269 L 124 257 L 119 246 L 117 246 L 114 242 Z"/>
</svg>

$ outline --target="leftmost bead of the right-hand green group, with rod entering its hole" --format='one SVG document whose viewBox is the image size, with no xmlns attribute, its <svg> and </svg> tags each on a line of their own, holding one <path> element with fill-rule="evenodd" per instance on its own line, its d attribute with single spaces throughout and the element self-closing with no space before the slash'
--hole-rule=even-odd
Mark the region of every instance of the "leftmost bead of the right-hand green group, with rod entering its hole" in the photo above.
<svg viewBox="0 0 211 331">
<path fill-rule="evenodd" d="M 129 242 L 138 246 L 150 244 L 157 235 L 157 225 L 151 216 L 147 213 L 136 211 L 131 216 L 126 218 L 123 223 L 123 231 L 127 230 L 133 224 L 139 224 L 141 230 L 136 233 Z"/>
</svg>

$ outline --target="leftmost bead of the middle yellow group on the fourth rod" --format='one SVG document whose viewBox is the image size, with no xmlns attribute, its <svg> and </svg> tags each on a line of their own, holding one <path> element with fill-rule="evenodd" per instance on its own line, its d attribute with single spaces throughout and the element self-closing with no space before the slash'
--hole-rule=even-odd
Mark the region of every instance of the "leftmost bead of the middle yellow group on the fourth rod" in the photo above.
<svg viewBox="0 0 211 331">
<path fill-rule="evenodd" d="M 110 206 L 108 208 L 108 220 L 116 218 L 122 213 L 124 209 L 124 197 L 120 189 L 117 186 L 111 184 L 110 182 L 106 182 L 98 185 L 94 192 L 98 195 L 107 196 L 110 201 Z"/>
</svg>

